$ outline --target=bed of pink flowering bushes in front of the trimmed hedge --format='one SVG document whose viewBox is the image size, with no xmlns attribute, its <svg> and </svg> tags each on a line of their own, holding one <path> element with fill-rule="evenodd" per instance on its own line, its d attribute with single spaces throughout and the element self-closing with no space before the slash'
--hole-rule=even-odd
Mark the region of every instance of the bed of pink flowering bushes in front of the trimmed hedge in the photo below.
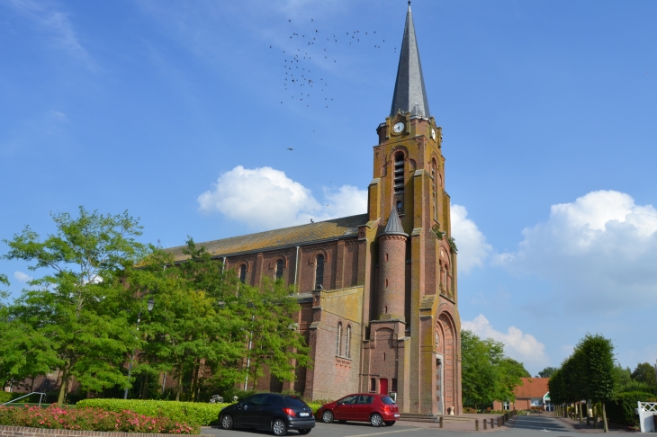
<svg viewBox="0 0 657 437">
<path fill-rule="evenodd" d="M 100 408 L 61 408 L 49 406 L 0 406 L 0 425 L 29 426 L 79 431 L 115 431 L 121 433 L 197 434 L 196 427 L 168 417 L 151 417 L 123 410 Z"/>
</svg>

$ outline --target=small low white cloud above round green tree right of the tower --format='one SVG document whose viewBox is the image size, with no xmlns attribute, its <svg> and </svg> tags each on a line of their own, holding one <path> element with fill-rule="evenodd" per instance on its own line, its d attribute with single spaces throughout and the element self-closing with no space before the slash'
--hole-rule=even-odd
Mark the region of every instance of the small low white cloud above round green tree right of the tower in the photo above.
<svg viewBox="0 0 657 437">
<path fill-rule="evenodd" d="M 532 334 L 523 334 L 516 326 L 510 326 L 502 333 L 491 326 L 491 322 L 480 314 L 472 322 L 461 323 L 464 330 L 472 331 L 482 338 L 492 338 L 504 343 L 504 352 L 516 361 L 543 366 L 550 360 L 545 354 L 545 344 L 536 340 Z"/>
</svg>

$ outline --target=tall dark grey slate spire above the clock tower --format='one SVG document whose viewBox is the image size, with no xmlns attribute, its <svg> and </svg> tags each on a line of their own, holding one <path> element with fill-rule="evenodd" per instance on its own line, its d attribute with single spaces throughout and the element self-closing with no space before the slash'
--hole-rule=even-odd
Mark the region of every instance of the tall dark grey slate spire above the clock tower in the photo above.
<svg viewBox="0 0 657 437">
<path fill-rule="evenodd" d="M 391 117 L 398 111 L 410 112 L 413 115 L 429 117 L 427 91 L 424 87 L 422 65 L 419 62 L 418 41 L 415 39 L 413 15 L 406 13 L 404 39 L 401 41 L 400 65 L 397 67 L 397 81 L 392 95 Z"/>
</svg>

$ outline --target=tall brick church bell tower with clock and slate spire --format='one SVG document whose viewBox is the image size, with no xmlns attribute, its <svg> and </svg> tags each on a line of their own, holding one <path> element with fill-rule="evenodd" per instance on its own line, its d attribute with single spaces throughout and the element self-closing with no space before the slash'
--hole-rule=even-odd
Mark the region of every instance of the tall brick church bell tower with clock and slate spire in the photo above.
<svg viewBox="0 0 657 437">
<path fill-rule="evenodd" d="M 403 412 L 459 415 L 457 249 L 442 129 L 429 112 L 410 5 L 392 108 L 376 131 L 368 226 L 378 229 L 372 238 L 378 256 L 373 254 L 363 369 L 370 378 L 363 388 L 385 379 Z"/>
</svg>

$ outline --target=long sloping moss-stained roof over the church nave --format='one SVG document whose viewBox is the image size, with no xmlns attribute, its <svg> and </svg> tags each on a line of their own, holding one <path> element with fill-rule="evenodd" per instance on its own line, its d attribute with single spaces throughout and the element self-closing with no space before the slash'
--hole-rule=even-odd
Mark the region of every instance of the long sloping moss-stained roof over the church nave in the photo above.
<svg viewBox="0 0 657 437">
<path fill-rule="evenodd" d="M 367 214 L 333 218 L 317 223 L 284 227 L 246 236 L 231 236 L 200 243 L 200 245 L 215 256 L 229 256 L 231 254 L 263 251 L 286 246 L 307 245 L 341 236 L 356 236 L 358 227 L 365 225 L 367 218 Z M 171 247 L 166 249 L 166 252 L 173 253 L 175 261 L 182 261 L 187 258 L 187 255 L 183 254 L 184 247 L 184 245 Z"/>
</svg>

